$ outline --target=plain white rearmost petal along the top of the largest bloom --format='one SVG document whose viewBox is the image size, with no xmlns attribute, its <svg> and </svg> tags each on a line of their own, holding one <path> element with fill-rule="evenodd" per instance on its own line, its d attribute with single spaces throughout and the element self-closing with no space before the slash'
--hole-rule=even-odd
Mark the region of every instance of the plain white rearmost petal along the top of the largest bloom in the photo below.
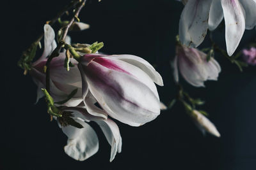
<svg viewBox="0 0 256 170">
<path fill-rule="evenodd" d="M 125 62 L 128 62 L 129 64 L 132 64 L 133 66 L 139 67 L 142 71 L 148 74 L 150 78 L 157 83 L 157 85 L 163 86 L 163 79 L 161 75 L 154 69 L 154 67 L 147 62 L 147 60 L 142 59 L 141 57 L 138 57 L 136 55 L 109 55 L 108 57 L 113 57 L 115 59 L 120 59 Z"/>
</svg>

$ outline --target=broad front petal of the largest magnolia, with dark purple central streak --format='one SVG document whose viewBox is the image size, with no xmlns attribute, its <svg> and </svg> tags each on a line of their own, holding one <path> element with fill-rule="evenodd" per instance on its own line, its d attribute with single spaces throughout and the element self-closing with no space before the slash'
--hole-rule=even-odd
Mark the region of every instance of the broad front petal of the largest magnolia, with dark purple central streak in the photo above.
<svg viewBox="0 0 256 170">
<path fill-rule="evenodd" d="M 159 115 L 159 99 L 133 76 L 96 62 L 83 68 L 90 92 L 111 117 L 135 126 L 150 122 Z"/>
</svg>

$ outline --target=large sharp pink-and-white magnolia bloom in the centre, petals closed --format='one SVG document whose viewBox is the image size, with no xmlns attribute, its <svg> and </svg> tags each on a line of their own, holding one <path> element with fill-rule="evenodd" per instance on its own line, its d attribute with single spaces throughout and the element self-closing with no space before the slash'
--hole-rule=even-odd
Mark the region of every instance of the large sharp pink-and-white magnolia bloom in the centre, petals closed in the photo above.
<svg viewBox="0 0 256 170">
<path fill-rule="evenodd" d="M 154 120 L 160 113 L 156 85 L 163 85 L 159 73 L 146 60 L 134 55 L 87 54 L 78 64 L 87 111 L 109 115 L 132 126 Z M 100 108 L 88 101 L 92 93 Z"/>
</svg>

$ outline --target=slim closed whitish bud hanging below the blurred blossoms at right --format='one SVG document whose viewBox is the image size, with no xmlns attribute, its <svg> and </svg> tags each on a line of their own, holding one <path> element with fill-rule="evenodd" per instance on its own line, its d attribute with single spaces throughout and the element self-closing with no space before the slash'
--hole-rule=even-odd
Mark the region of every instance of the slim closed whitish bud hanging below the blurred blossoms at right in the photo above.
<svg viewBox="0 0 256 170">
<path fill-rule="evenodd" d="M 200 129 L 200 131 L 202 131 L 203 134 L 205 134 L 205 132 L 209 132 L 213 136 L 220 137 L 220 132 L 218 132 L 215 125 L 212 124 L 207 117 L 202 115 L 202 113 L 197 110 L 193 110 L 190 116 L 193 118 L 196 126 Z"/>
</svg>

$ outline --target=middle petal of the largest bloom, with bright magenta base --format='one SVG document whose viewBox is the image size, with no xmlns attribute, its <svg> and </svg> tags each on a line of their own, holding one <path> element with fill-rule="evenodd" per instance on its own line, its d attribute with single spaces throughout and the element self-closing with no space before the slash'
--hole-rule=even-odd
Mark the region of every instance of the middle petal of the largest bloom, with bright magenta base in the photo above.
<svg viewBox="0 0 256 170">
<path fill-rule="evenodd" d="M 93 61 L 99 63 L 101 66 L 107 67 L 108 69 L 120 71 L 133 76 L 138 81 L 141 81 L 141 83 L 147 85 L 147 87 L 149 87 L 149 89 L 152 90 L 155 96 L 159 99 L 154 81 L 152 81 L 148 74 L 142 71 L 139 67 L 111 57 L 97 57 L 93 59 Z"/>
</svg>

